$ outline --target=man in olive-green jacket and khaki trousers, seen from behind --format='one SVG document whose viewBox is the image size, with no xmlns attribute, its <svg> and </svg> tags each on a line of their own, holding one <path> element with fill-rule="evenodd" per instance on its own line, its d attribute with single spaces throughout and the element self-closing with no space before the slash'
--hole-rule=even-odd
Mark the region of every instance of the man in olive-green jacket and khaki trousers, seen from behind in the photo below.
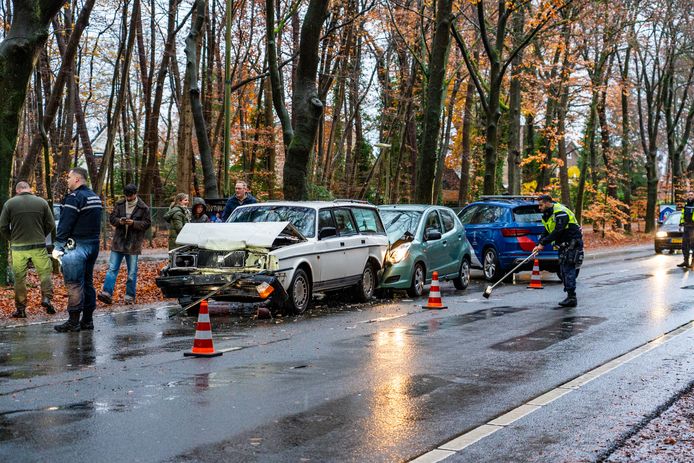
<svg viewBox="0 0 694 463">
<path fill-rule="evenodd" d="M 31 193 L 27 182 L 15 187 L 17 195 L 9 199 L 0 214 L 0 233 L 10 242 L 12 272 L 14 273 L 15 318 L 26 318 L 26 276 L 29 261 L 34 264 L 41 280 L 41 305 L 49 314 L 54 314 L 53 263 L 46 252 L 46 236 L 55 228 L 55 220 L 48 203 Z"/>
</svg>

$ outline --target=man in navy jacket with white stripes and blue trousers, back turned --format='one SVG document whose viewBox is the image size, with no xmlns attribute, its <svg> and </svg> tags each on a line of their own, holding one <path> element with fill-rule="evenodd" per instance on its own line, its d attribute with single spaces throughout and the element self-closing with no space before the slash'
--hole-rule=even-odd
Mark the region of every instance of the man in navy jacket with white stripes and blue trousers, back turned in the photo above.
<svg viewBox="0 0 694 463">
<path fill-rule="evenodd" d="M 58 222 L 53 250 L 53 257 L 61 260 L 68 293 L 67 310 L 70 318 L 65 323 L 54 326 L 61 333 L 94 329 L 94 264 L 99 255 L 102 215 L 101 198 L 87 187 L 85 169 L 71 169 L 67 186 L 70 194 L 63 200 L 63 213 Z"/>
</svg>

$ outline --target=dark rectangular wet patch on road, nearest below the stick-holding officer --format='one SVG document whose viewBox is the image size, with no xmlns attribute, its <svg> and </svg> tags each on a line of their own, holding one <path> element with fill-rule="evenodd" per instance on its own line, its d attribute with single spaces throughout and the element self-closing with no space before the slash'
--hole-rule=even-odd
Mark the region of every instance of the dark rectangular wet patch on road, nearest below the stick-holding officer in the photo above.
<svg viewBox="0 0 694 463">
<path fill-rule="evenodd" d="M 528 352 L 548 348 L 561 341 L 581 334 L 588 328 L 607 320 L 603 317 L 564 317 L 551 325 L 492 345 L 492 349 L 507 352 Z"/>
</svg>

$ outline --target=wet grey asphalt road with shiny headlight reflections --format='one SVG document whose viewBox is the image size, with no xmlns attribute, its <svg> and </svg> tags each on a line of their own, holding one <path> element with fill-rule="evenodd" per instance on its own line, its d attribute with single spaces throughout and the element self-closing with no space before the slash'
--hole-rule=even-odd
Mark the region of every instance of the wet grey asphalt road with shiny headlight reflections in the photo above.
<svg viewBox="0 0 694 463">
<path fill-rule="evenodd" d="M 641 249 L 449 309 L 404 294 L 270 321 L 212 304 L 213 359 L 162 303 L 97 331 L 0 330 L 0 461 L 404 461 L 694 319 L 694 272 Z M 691 288 L 687 288 L 691 286 Z M 450 457 L 593 461 L 694 378 L 689 332 Z"/>
</svg>

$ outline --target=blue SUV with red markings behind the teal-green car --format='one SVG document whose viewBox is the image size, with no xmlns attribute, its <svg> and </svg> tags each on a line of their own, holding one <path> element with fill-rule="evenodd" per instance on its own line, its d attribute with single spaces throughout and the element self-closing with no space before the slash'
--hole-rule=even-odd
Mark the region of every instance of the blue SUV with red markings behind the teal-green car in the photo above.
<svg viewBox="0 0 694 463">
<path fill-rule="evenodd" d="M 489 281 L 498 280 L 528 257 L 544 231 L 542 212 L 531 196 L 482 196 L 458 217 L 477 257 L 473 267 L 481 268 Z M 538 259 L 540 270 L 559 271 L 559 257 L 552 247 L 545 247 Z M 518 271 L 532 265 L 529 261 Z"/>
</svg>

